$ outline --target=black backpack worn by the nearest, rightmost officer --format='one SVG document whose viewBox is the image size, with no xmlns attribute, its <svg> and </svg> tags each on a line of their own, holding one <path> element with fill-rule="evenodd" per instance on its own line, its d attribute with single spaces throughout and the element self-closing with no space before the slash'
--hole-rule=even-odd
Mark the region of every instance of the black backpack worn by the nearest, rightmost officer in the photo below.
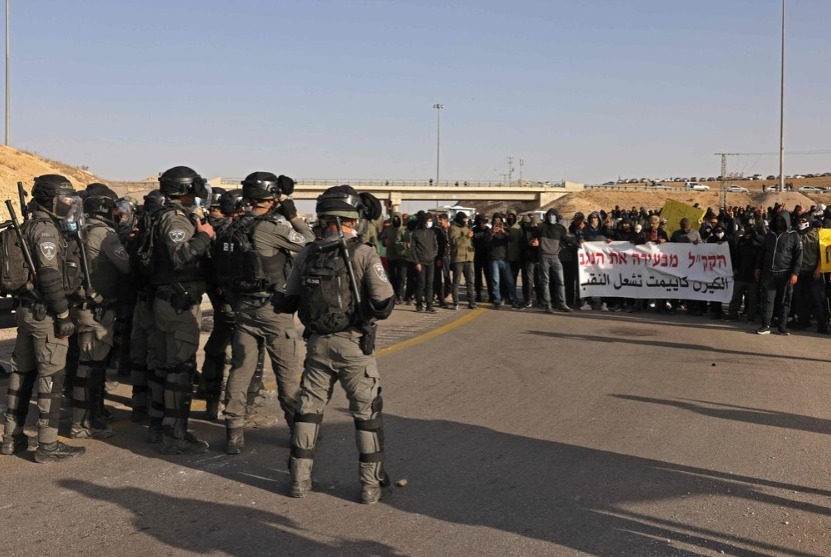
<svg viewBox="0 0 831 557">
<path fill-rule="evenodd" d="M 357 240 L 347 242 L 354 260 Z M 349 270 L 338 241 L 318 241 L 308 247 L 300 277 L 302 293 L 298 316 L 309 330 L 321 335 L 345 331 L 356 324 Z"/>
</svg>

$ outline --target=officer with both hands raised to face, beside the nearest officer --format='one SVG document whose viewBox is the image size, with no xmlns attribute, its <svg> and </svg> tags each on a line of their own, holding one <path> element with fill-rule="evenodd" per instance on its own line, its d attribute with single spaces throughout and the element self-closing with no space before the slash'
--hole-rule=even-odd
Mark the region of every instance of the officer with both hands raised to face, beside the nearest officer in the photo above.
<svg viewBox="0 0 831 557">
<path fill-rule="evenodd" d="M 271 172 L 254 172 L 242 182 L 242 195 L 250 203 L 251 210 L 231 226 L 238 227 L 238 233 L 250 242 L 248 251 L 252 253 L 238 255 L 244 261 L 256 260 L 257 263 L 238 266 L 259 269 L 260 276 L 232 273 L 239 271 L 228 268 L 233 265 L 233 259 L 220 263 L 220 254 L 217 256 L 220 284 L 225 283 L 230 289 L 229 298 L 236 314 L 233 361 L 225 389 L 225 452 L 228 454 L 239 454 L 245 444 L 245 410 L 260 346 L 271 358 L 283 416 L 289 428 L 294 426 L 294 409 L 302 372 L 298 335 L 293 312 L 275 313 L 271 305 L 272 296 L 285 289 L 294 256 L 308 242 L 314 241 L 309 225 L 297 215 L 294 202 L 289 197 L 292 191 L 293 180 L 286 176 L 277 177 Z M 229 242 L 224 238 L 220 243 L 227 248 Z M 239 247 L 236 250 L 239 251 Z M 223 273 L 231 274 L 223 277 Z"/>
</svg>

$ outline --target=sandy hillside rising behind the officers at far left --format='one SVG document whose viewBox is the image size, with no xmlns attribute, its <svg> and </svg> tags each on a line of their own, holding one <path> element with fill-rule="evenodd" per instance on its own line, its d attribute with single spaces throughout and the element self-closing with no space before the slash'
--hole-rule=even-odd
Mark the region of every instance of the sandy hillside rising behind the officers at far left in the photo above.
<svg viewBox="0 0 831 557">
<path fill-rule="evenodd" d="M 31 192 L 35 177 L 43 174 L 66 176 L 76 189 L 82 189 L 93 182 L 109 183 L 77 166 L 70 166 L 0 145 L 0 201 L 11 199 L 19 211 L 17 183 L 23 182 L 26 191 Z M 5 215 L 5 212 L 4 206 L 2 214 Z"/>
</svg>

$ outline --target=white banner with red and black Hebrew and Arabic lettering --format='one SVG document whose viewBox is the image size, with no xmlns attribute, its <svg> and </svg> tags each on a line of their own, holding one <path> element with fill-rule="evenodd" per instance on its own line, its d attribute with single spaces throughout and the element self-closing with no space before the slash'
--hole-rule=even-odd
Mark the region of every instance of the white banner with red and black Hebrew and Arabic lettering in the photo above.
<svg viewBox="0 0 831 557">
<path fill-rule="evenodd" d="M 726 242 L 586 242 L 577 255 L 580 296 L 729 302 L 733 295 Z"/>
</svg>

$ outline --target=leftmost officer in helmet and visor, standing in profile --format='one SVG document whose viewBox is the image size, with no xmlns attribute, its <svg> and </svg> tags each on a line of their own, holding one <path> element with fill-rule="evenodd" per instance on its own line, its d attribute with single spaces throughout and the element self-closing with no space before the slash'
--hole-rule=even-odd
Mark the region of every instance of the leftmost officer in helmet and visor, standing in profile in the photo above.
<svg viewBox="0 0 831 557">
<path fill-rule="evenodd" d="M 28 439 L 23 426 L 29 401 L 36 394 L 40 413 L 36 462 L 65 460 L 86 451 L 58 440 L 67 339 L 75 331 L 66 292 L 66 247 L 59 228 L 66 211 L 75 206 L 71 196 L 72 185 L 63 176 L 35 178 L 29 204 L 31 217 L 23 224 L 35 269 L 26 293 L 18 298 L 17 340 L 0 452 L 10 455 L 26 450 Z"/>
</svg>

